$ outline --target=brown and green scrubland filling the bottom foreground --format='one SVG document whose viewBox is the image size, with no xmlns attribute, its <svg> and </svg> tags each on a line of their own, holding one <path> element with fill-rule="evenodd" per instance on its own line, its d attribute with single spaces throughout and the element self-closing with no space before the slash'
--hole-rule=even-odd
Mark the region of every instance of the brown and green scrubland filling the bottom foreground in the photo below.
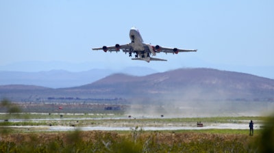
<svg viewBox="0 0 274 153">
<path fill-rule="evenodd" d="M 1 136 L 0 152 L 256 152 L 258 135 L 73 131 Z"/>
</svg>

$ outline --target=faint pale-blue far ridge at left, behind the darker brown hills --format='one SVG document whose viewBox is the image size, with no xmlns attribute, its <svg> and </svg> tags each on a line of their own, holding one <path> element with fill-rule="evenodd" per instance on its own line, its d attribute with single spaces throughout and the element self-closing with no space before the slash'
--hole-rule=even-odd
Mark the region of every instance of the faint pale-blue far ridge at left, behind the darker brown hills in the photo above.
<svg viewBox="0 0 274 153">
<path fill-rule="evenodd" d="M 51 88 L 75 87 L 92 83 L 116 72 L 144 76 L 153 74 L 156 71 L 143 67 L 128 67 L 120 71 L 108 69 L 92 69 L 83 72 L 69 72 L 66 70 L 42 72 L 0 71 L 0 85 L 39 85 Z"/>
</svg>

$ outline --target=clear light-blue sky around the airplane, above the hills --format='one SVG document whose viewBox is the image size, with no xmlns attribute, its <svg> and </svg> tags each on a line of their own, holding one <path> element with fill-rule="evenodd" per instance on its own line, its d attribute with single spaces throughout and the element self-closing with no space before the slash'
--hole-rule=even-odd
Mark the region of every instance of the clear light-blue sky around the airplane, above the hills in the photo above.
<svg viewBox="0 0 274 153">
<path fill-rule="evenodd" d="M 274 1 L 0 1 L 0 70 L 217 68 L 274 79 Z M 132 61 L 91 48 L 145 42 L 197 53 Z"/>
</svg>

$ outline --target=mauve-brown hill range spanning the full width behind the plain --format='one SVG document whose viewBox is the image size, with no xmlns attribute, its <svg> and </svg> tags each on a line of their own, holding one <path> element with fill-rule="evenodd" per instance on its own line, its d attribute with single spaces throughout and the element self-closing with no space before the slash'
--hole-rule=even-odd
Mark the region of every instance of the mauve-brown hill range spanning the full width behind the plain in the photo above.
<svg viewBox="0 0 274 153">
<path fill-rule="evenodd" d="M 274 101 L 274 80 L 240 72 L 182 68 L 136 77 L 112 74 L 78 87 L 51 89 L 28 85 L 0 86 L 0 97 L 23 101 L 159 100 Z"/>
</svg>

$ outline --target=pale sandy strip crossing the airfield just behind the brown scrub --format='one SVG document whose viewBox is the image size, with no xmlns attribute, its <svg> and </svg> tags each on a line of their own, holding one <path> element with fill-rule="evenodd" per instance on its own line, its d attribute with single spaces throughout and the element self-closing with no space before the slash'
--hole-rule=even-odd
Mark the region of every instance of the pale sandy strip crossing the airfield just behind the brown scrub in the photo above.
<svg viewBox="0 0 274 153">
<path fill-rule="evenodd" d="M 69 131 L 69 130 L 204 130 L 204 129 L 249 129 L 247 120 L 238 122 L 227 121 L 227 123 L 204 122 L 203 127 L 197 127 L 197 122 L 166 122 L 160 117 L 147 117 L 129 119 L 128 117 L 97 117 L 97 118 L 55 118 L 49 119 L 30 119 L 30 120 L 9 120 L 9 122 L 47 122 L 42 126 L 8 126 L 17 130 L 24 131 Z M 145 118 L 145 119 L 147 119 Z M 151 120 L 152 119 L 152 120 Z M 169 118 L 165 118 L 169 119 Z M 172 120 L 172 118 L 171 118 Z M 258 122 L 258 121 L 255 121 Z M 54 123 L 54 124 L 52 124 Z M 51 125 L 52 124 L 52 125 Z M 37 125 L 37 124 L 36 124 Z M 254 124 L 254 129 L 259 129 L 262 124 Z"/>
</svg>

